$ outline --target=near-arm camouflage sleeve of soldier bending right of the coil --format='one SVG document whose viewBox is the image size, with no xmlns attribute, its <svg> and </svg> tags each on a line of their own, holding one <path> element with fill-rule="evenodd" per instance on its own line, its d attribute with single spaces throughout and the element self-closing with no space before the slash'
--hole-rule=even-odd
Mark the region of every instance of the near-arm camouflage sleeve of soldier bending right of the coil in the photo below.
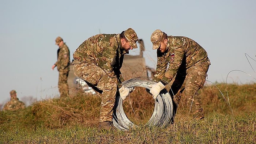
<svg viewBox="0 0 256 144">
<path fill-rule="evenodd" d="M 178 69 L 180 68 L 181 62 L 183 60 L 185 51 L 183 48 L 173 48 L 173 53 L 171 54 L 170 58 L 170 65 L 167 71 L 165 72 L 165 75 L 161 79 L 161 82 L 163 84 L 168 84 L 171 82 L 173 77 L 176 75 Z M 172 57 L 173 56 L 173 57 Z"/>
</svg>

